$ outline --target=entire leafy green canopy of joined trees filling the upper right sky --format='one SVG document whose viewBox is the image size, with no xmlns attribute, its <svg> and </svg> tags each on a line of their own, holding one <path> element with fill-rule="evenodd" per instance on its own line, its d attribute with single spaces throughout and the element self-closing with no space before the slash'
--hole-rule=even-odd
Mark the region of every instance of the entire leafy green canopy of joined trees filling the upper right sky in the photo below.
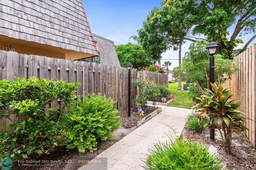
<svg viewBox="0 0 256 170">
<path fill-rule="evenodd" d="M 177 50 L 186 40 L 195 42 L 199 35 L 213 39 L 220 46 L 219 53 L 232 59 L 234 47 L 243 43 L 238 38 L 256 33 L 255 0 L 164 0 L 161 6 L 150 12 L 138 30 L 139 44 L 155 60 L 168 49 Z M 235 29 L 229 32 L 232 25 Z M 244 49 L 255 38 L 252 36 Z"/>
</svg>

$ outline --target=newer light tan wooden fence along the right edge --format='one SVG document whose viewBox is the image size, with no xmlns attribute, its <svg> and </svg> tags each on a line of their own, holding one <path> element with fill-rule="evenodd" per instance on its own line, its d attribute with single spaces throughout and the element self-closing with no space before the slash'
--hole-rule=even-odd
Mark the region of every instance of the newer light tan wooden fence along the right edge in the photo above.
<svg viewBox="0 0 256 170">
<path fill-rule="evenodd" d="M 237 55 L 234 60 L 237 61 L 239 71 L 226 82 L 225 87 L 231 86 L 233 90 L 231 93 L 235 93 L 236 98 L 243 100 L 238 110 L 245 112 L 246 117 L 249 118 L 244 122 L 244 126 L 249 129 L 245 133 L 256 147 L 256 44 Z"/>
</svg>

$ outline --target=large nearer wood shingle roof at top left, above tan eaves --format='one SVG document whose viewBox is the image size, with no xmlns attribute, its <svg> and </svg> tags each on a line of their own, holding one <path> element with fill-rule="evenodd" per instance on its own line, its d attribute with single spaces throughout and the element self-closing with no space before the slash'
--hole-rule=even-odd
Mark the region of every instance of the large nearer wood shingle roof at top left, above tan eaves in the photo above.
<svg viewBox="0 0 256 170">
<path fill-rule="evenodd" d="M 0 35 L 99 55 L 80 0 L 0 0 Z"/>
</svg>

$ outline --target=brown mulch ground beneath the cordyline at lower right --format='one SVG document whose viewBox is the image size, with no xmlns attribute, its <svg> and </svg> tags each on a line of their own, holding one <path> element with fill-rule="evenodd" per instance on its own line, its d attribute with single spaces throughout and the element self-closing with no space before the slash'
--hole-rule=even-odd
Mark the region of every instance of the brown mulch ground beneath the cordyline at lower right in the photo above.
<svg viewBox="0 0 256 170">
<path fill-rule="evenodd" d="M 210 140 L 209 130 L 202 133 L 190 131 L 185 127 L 183 135 L 185 139 L 202 142 L 209 146 L 213 146 L 218 151 L 218 158 L 221 158 L 223 165 L 227 169 L 256 169 L 256 151 L 252 144 L 245 137 L 243 131 L 232 132 L 232 154 L 227 155 L 221 140 L 217 138 L 219 131 L 215 130 L 215 141 Z"/>
</svg>

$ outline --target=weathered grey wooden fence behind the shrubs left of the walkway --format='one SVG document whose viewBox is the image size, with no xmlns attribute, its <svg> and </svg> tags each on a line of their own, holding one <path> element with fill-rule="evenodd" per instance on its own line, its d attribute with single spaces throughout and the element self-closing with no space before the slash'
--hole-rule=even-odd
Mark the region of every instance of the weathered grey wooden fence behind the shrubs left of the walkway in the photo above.
<svg viewBox="0 0 256 170">
<path fill-rule="evenodd" d="M 167 75 L 150 71 L 132 69 L 132 77 L 167 84 Z M 27 55 L 12 51 L 0 50 L 0 80 L 14 77 L 48 78 L 52 81 L 66 80 L 80 83 L 75 95 L 88 96 L 88 93 L 103 94 L 112 98 L 115 108 L 124 110 L 128 107 L 128 70 L 124 67 L 113 67 L 83 61 L 48 58 L 45 56 Z M 137 97 L 137 89 L 131 86 L 132 99 Z M 132 103 L 134 106 L 134 103 Z M 2 122 L 1 122 L 2 121 Z M 0 132 L 3 119 L 0 119 Z M 6 120 L 7 121 L 7 120 Z M 8 128 L 10 122 L 5 122 Z M 2 127 L 3 128 L 3 127 Z"/>
</svg>

